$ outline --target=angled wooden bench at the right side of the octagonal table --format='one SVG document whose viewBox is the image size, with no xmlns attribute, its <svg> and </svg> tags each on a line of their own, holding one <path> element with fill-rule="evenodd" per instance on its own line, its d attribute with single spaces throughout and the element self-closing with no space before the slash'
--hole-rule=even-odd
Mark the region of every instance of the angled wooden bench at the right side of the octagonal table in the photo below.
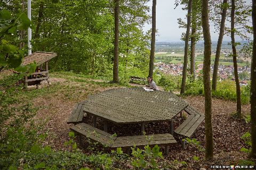
<svg viewBox="0 0 256 170">
<path fill-rule="evenodd" d="M 183 137 L 191 138 L 195 133 L 198 126 L 204 121 L 204 115 L 197 111 L 192 106 L 187 106 L 185 111 L 190 114 L 188 118 L 181 123 L 177 129 L 174 130 L 175 133 L 182 135 Z M 182 148 L 185 149 L 186 140 L 182 140 Z"/>
</svg>

